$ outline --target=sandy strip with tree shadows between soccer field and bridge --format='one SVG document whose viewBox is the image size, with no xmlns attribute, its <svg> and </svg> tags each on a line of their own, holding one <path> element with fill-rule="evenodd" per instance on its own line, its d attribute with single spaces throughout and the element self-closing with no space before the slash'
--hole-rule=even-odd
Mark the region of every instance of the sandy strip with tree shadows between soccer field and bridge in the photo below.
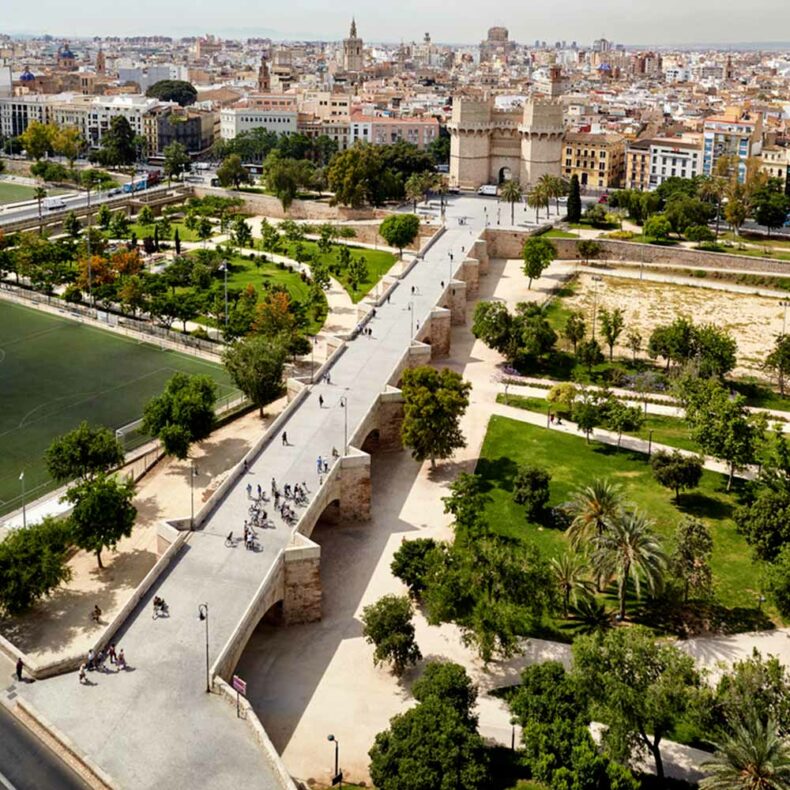
<svg viewBox="0 0 790 790">
<path fill-rule="evenodd" d="M 284 398 L 272 404 L 264 421 L 257 412 L 246 414 L 193 449 L 196 512 L 284 406 Z M 137 525 L 115 551 L 102 553 L 105 568 L 95 555 L 77 552 L 69 562 L 71 581 L 28 614 L 1 622 L 3 636 L 39 662 L 87 652 L 156 562 L 157 524 L 189 517 L 189 483 L 189 461 L 168 459 L 154 467 L 138 484 Z M 100 623 L 90 619 L 94 605 L 102 610 Z"/>
</svg>

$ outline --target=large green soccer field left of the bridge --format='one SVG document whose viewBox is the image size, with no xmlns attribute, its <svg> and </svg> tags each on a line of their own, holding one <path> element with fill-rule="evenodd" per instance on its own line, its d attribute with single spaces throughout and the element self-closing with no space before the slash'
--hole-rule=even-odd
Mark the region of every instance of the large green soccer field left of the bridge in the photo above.
<svg viewBox="0 0 790 790">
<path fill-rule="evenodd" d="M 176 372 L 211 376 L 235 392 L 224 369 L 77 321 L 0 301 L 0 514 L 53 487 L 43 454 L 81 420 L 119 428 Z"/>
</svg>

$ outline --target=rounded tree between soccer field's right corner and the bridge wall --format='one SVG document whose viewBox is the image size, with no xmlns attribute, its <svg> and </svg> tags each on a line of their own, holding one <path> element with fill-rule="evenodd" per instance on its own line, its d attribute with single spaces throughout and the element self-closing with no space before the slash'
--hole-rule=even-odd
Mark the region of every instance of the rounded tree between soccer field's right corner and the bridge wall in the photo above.
<svg viewBox="0 0 790 790">
<path fill-rule="evenodd" d="M 284 340 L 263 335 L 237 340 L 223 353 L 222 361 L 233 383 L 258 407 L 261 417 L 264 407 L 283 393 L 287 357 Z"/>
</svg>

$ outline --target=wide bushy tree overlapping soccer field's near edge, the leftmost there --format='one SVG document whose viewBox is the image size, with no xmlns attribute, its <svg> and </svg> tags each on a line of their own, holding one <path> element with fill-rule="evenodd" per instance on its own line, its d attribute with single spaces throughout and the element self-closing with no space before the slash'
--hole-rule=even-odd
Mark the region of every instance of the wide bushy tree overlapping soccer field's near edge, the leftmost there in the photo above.
<svg viewBox="0 0 790 790">
<path fill-rule="evenodd" d="M 44 453 L 47 472 L 58 483 L 74 478 L 91 480 L 120 466 L 123 458 L 123 448 L 115 434 L 86 421 L 55 439 Z"/>
</svg>

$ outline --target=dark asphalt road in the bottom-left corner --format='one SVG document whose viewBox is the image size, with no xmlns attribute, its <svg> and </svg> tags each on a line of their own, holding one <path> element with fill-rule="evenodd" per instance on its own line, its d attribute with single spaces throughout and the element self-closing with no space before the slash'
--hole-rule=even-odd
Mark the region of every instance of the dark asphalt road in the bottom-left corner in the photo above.
<svg viewBox="0 0 790 790">
<path fill-rule="evenodd" d="M 87 785 L 0 705 L 0 788 L 84 790 Z"/>
</svg>

